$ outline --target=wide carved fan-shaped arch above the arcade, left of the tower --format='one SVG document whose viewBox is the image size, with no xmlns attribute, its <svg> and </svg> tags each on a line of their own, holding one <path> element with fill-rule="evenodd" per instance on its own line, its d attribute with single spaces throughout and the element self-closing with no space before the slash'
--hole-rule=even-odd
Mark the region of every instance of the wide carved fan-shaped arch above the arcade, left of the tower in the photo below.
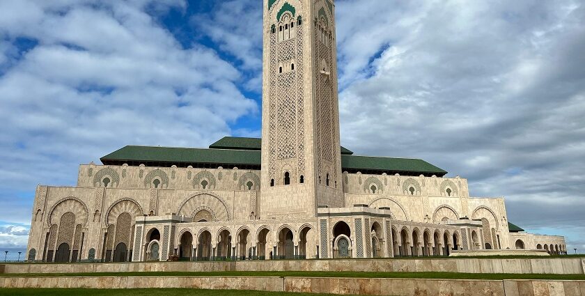
<svg viewBox="0 0 585 296">
<path fill-rule="evenodd" d="M 210 208 L 215 215 L 216 221 L 231 220 L 230 210 L 224 198 L 213 194 L 212 192 L 198 192 L 181 203 L 177 213 L 178 215 L 193 217 L 194 210 L 206 206 Z"/>
</svg>

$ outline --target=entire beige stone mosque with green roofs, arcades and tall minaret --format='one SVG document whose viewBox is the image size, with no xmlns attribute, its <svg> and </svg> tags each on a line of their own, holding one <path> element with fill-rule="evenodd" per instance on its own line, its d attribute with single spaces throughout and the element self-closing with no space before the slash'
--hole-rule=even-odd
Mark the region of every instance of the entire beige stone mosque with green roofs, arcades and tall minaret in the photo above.
<svg viewBox="0 0 585 296">
<path fill-rule="evenodd" d="M 342 147 L 333 0 L 263 2 L 262 139 L 125 146 L 81 164 L 75 187 L 39 185 L 29 261 L 565 254 L 465 178 Z"/>
</svg>

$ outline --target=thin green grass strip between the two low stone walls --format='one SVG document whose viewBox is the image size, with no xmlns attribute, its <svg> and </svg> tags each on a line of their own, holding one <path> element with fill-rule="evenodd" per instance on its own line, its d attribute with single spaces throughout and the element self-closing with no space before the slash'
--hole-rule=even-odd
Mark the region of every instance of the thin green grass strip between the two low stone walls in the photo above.
<svg viewBox="0 0 585 296">
<path fill-rule="evenodd" d="M 0 274 L 14 277 L 37 276 L 280 276 L 280 277 L 350 277 L 381 279 L 553 279 L 583 280 L 585 274 L 472 274 L 456 272 L 88 272 L 88 273 L 27 273 Z"/>
</svg>

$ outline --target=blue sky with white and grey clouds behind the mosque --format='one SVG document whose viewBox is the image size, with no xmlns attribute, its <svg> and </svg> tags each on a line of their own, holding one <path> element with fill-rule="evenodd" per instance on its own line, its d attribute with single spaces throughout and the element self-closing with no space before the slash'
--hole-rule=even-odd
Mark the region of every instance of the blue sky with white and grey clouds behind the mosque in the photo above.
<svg viewBox="0 0 585 296">
<path fill-rule="evenodd" d="M 262 1 L 0 0 L 0 251 L 126 145 L 260 137 Z M 341 143 L 425 159 L 585 252 L 583 0 L 336 0 Z"/>
</svg>

